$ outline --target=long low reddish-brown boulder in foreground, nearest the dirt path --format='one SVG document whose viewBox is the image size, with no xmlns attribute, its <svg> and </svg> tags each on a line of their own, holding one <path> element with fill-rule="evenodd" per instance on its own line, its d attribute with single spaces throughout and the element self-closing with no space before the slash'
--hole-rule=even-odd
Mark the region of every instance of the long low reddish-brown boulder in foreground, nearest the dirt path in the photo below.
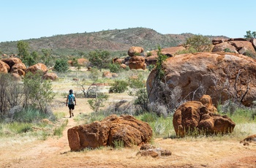
<svg viewBox="0 0 256 168">
<path fill-rule="evenodd" d="M 102 121 L 75 126 L 67 131 L 69 147 L 73 151 L 83 148 L 114 146 L 124 142 L 125 147 L 150 142 L 152 129 L 143 121 L 130 115 L 110 115 Z"/>
</svg>

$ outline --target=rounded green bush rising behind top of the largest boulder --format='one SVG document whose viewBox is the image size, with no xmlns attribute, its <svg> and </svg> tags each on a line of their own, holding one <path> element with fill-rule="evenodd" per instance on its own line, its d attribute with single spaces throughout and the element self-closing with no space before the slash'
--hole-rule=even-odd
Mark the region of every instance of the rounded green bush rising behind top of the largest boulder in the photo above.
<svg viewBox="0 0 256 168">
<path fill-rule="evenodd" d="M 195 35 L 187 39 L 184 47 L 193 48 L 197 52 L 208 52 L 211 50 L 211 41 L 208 37 L 204 37 L 203 35 Z"/>
</svg>

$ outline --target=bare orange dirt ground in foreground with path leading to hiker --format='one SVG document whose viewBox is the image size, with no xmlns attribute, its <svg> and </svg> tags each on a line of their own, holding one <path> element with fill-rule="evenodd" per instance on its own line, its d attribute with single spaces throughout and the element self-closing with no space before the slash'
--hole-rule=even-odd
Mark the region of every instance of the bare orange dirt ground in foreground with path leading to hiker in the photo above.
<svg viewBox="0 0 256 168">
<path fill-rule="evenodd" d="M 59 111 L 67 112 L 67 107 L 61 107 Z M 78 99 L 75 115 L 80 112 L 89 112 L 89 107 Z M 68 117 L 67 112 L 61 119 L 68 120 L 63 137 L 5 142 L 4 148 L 0 148 L 0 167 L 256 167 L 256 143 L 244 146 L 237 140 L 159 138 L 154 140 L 154 145 L 170 150 L 172 155 L 155 159 L 138 156 L 138 147 L 70 152 L 67 129 L 78 123 Z"/>
</svg>

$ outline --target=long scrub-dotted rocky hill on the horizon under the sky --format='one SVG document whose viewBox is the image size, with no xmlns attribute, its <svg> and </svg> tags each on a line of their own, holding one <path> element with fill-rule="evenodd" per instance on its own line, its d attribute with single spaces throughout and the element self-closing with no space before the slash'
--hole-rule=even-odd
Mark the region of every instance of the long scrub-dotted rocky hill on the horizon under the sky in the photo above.
<svg viewBox="0 0 256 168">
<path fill-rule="evenodd" d="M 145 50 L 155 50 L 157 46 L 173 47 L 180 45 L 193 34 L 159 34 L 151 28 L 127 28 L 98 31 L 91 33 L 64 34 L 39 39 L 26 39 L 31 51 L 52 50 L 56 56 L 78 55 L 91 50 L 109 50 L 127 52 L 131 46 L 140 46 Z M 210 37 L 220 38 L 220 37 Z M 221 37 L 225 38 L 225 37 Z M 17 41 L 1 42 L 1 53 L 17 53 Z"/>
</svg>

